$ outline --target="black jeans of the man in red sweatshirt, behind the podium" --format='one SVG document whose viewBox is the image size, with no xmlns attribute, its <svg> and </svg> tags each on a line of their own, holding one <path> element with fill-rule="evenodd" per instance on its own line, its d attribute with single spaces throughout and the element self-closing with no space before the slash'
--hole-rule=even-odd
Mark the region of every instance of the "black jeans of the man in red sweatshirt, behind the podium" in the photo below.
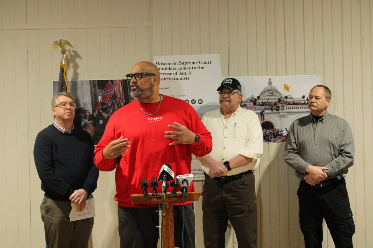
<svg viewBox="0 0 373 248">
<path fill-rule="evenodd" d="M 118 208 L 121 248 L 156 248 L 159 239 L 158 212 L 155 207 Z M 173 207 L 175 247 L 182 248 L 183 206 Z M 195 248 L 193 204 L 185 205 L 184 247 Z"/>
</svg>

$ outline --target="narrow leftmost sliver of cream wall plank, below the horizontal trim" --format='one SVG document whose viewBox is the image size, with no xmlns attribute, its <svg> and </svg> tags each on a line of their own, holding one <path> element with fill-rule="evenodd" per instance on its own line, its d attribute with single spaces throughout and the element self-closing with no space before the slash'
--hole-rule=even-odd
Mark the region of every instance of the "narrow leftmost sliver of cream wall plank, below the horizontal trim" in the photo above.
<svg viewBox="0 0 373 248">
<path fill-rule="evenodd" d="M 0 4 L 1 6 L 1 4 Z M 5 84 L 4 84 L 4 63 L 5 57 L 4 55 L 4 42 L 3 42 L 3 33 L 4 31 L 0 31 L 0 116 L 4 115 L 4 94 L 5 94 Z M 6 235 L 7 235 L 7 222 L 6 222 L 6 178 L 5 178 L 5 118 L 0 118 L 0 184 L 3 187 L 0 188 L 0 197 L 1 199 L 5 199 L 0 201 L 0 246 L 6 247 Z"/>
</svg>

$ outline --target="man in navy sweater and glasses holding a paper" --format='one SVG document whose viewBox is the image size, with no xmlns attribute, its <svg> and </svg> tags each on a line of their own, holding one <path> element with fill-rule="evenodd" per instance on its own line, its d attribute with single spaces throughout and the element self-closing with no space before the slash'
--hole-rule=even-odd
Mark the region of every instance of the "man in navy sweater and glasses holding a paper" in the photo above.
<svg viewBox="0 0 373 248">
<path fill-rule="evenodd" d="M 34 160 L 45 192 L 40 210 L 48 248 L 87 247 L 93 228 L 93 218 L 72 222 L 69 218 L 71 203 L 82 211 L 98 179 L 92 138 L 73 126 L 75 108 L 72 94 L 56 94 L 52 99 L 54 123 L 35 140 Z"/>
</svg>

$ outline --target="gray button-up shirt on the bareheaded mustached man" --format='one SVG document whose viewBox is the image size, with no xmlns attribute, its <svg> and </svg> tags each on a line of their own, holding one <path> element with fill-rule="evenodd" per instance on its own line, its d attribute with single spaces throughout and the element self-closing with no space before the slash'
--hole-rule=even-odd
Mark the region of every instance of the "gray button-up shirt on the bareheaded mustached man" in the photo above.
<svg viewBox="0 0 373 248">
<path fill-rule="evenodd" d="M 326 112 L 318 122 L 308 115 L 291 124 L 282 158 L 301 179 L 308 165 L 328 167 L 324 172 L 333 178 L 354 165 L 354 153 L 347 121 Z"/>
</svg>

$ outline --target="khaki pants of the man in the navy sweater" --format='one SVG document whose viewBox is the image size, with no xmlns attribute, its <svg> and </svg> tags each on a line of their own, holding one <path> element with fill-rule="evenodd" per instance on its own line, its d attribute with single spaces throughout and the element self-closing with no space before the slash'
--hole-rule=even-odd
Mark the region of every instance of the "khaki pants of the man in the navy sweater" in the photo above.
<svg viewBox="0 0 373 248">
<path fill-rule="evenodd" d="M 92 198 L 91 195 L 88 198 Z M 70 202 L 48 199 L 44 196 L 40 205 L 41 220 L 48 248 L 84 248 L 93 228 L 93 218 L 70 222 Z"/>
</svg>

